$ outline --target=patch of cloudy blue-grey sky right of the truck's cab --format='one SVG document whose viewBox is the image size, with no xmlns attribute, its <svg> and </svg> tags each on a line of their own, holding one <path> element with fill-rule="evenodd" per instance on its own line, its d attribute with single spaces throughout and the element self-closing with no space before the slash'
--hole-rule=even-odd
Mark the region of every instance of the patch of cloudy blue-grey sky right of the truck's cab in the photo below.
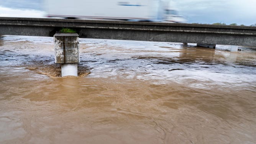
<svg viewBox="0 0 256 144">
<path fill-rule="evenodd" d="M 189 23 L 256 23 L 256 0 L 179 0 L 175 3 Z"/>
</svg>

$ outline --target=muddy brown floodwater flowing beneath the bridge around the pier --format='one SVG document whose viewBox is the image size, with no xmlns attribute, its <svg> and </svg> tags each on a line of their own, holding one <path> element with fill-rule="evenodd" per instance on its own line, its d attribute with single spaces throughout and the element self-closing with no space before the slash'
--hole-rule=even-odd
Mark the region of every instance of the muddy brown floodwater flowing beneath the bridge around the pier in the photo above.
<svg viewBox="0 0 256 144">
<path fill-rule="evenodd" d="M 0 143 L 253 144 L 256 51 L 80 39 L 60 77 L 53 38 L 0 38 Z"/>
</svg>

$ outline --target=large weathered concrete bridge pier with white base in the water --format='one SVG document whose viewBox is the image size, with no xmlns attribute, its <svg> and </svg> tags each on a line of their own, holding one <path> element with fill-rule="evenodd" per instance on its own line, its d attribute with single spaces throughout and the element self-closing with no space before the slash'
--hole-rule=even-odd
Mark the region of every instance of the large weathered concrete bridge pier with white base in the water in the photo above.
<svg viewBox="0 0 256 144">
<path fill-rule="evenodd" d="M 77 76 L 79 59 L 79 35 L 77 33 L 54 34 L 55 63 L 61 65 L 61 76 Z"/>
</svg>

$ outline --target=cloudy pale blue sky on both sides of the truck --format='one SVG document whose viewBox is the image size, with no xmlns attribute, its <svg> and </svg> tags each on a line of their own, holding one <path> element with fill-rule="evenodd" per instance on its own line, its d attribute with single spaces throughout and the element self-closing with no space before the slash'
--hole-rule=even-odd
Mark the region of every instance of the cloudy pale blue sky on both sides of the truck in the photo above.
<svg viewBox="0 0 256 144">
<path fill-rule="evenodd" d="M 188 23 L 256 23 L 256 0 L 172 1 Z M 44 14 L 43 0 L 0 0 L 0 16 L 43 17 Z"/>
</svg>

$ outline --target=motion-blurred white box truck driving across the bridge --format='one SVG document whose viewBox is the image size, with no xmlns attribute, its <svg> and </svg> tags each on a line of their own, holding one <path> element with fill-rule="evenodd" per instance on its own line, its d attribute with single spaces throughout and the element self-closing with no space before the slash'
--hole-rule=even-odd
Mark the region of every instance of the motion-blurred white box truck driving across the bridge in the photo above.
<svg viewBox="0 0 256 144">
<path fill-rule="evenodd" d="M 44 0 L 47 17 L 184 23 L 169 0 Z"/>
</svg>

